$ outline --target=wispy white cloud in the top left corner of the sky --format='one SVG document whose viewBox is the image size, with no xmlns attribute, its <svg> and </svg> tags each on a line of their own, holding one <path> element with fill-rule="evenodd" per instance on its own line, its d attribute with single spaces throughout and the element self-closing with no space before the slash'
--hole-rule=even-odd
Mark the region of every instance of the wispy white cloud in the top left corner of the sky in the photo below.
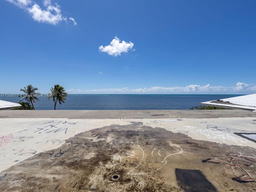
<svg viewBox="0 0 256 192">
<path fill-rule="evenodd" d="M 52 4 L 51 0 L 42 0 L 43 8 L 40 7 L 33 0 L 6 0 L 23 10 L 26 10 L 32 18 L 37 22 L 56 25 L 62 21 L 68 22 L 71 20 L 74 25 L 77 25 L 74 18 L 68 19 L 62 15 L 60 6 L 57 3 Z"/>
</svg>

